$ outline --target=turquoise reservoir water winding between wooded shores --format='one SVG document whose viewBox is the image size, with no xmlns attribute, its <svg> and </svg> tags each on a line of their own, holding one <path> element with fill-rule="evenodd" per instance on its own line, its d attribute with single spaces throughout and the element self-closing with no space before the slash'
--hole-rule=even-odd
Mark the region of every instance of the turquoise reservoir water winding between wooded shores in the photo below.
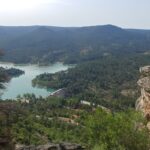
<svg viewBox="0 0 150 150">
<path fill-rule="evenodd" d="M 24 75 L 12 78 L 9 83 L 5 84 L 6 89 L 1 90 L 1 99 L 15 99 L 18 95 L 25 93 L 34 93 L 36 96 L 46 97 L 53 92 L 53 89 L 44 89 L 32 86 L 32 79 L 42 73 L 55 73 L 62 70 L 67 70 L 70 66 L 62 63 L 55 63 L 49 66 L 38 65 L 14 65 L 11 63 L 0 63 L 0 66 L 5 68 L 18 68 L 25 71 Z"/>
</svg>

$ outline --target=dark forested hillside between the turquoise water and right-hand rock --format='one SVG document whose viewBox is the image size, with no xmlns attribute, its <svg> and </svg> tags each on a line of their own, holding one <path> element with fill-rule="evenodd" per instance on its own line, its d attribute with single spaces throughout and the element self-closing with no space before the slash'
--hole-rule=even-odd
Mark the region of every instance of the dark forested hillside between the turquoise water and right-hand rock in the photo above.
<svg viewBox="0 0 150 150">
<path fill-rule="evenodd" d="M 139 67 L 150 64 L 150 55 L 105 56 L 69 69 L 67 72 L 41 74 L 33 85 L 65 88 L 67 97 L 77 97 L 112 110 L 134 108 L 140 93 Z"/>
</svg>

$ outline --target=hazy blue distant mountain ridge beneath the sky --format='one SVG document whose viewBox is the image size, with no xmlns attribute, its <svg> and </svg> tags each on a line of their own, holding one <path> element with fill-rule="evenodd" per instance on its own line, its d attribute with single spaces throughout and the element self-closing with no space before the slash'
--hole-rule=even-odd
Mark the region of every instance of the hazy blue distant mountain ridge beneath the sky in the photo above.
<svg viewBox="0 0 150 150">
<path fill-rule="evenodd" d="M 77 63 L 104 53 L 150 50 L 150 30 L 113 25 L 89 27 L 0 26 L 3 60 L 15 63 Z"/>
</svg>

